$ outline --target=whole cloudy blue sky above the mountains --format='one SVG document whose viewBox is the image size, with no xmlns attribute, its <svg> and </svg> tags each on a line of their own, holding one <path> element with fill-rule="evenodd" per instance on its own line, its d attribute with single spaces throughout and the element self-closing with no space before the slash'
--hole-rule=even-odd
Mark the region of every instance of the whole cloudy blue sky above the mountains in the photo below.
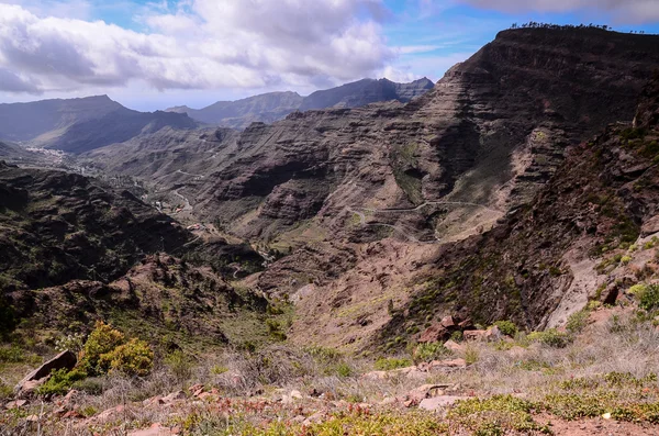
<svg viewBox="0 0 659 436">
<path fill-rule="evenodd" d="M 512 23 L 659 33 L 659 0 L 0 0 L 0 102 L 136 110 L 437 81 Z"/>
</svg>

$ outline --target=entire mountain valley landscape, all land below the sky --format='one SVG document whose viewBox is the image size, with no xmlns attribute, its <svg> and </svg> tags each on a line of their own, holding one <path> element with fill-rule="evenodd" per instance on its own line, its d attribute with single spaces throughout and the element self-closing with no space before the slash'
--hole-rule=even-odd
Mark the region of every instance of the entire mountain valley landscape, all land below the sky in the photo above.
<svg viewBox="0 0 659 436">
<path fill-rule="evenodd" d="M 0 104 L 0 435 L 656 434 L 658 66 Z"/>
</svg>

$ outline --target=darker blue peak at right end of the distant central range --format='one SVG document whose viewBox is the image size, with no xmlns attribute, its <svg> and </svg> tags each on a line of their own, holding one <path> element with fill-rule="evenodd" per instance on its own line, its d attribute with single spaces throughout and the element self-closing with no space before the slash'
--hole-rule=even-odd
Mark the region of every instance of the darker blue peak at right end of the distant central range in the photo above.
<svg viewBox="0 0 659 436">
<path fill-rule="evenodd" d="M 337 88 L 315 91 L 304 98 L 299 109 L 308 111 L 325 108 L 359 108 L 389 100 L 407 102 L 433 89 L 433 86 L 434 83 L 425 77 L 411 83 L 395 83 L 388 79 L 362 79 Z"/>
</svg>

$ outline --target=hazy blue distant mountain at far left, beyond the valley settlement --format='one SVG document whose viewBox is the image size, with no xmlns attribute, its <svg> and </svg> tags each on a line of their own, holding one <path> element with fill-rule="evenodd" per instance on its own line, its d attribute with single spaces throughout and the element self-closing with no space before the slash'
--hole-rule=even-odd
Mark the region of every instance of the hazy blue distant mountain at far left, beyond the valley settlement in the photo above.
<svg viewBox="0 0 659 436">
<path fill-rule="evenodd" d="M 164 126 L 194 128 L 186 114 L 137 112 L 108 96 L 0 104 L 0 138 L 70 153 L 121 143 Z"/>
</svg>

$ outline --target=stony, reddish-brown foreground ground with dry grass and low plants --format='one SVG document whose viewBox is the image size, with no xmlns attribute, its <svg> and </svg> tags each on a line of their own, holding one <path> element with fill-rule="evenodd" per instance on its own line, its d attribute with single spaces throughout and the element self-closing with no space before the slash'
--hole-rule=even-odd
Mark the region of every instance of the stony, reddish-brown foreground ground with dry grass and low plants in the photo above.
<svg viewBox="0 0 659 436">
<path fill-rule="evenodd" d="M 375 364 L 276 346 L 209 356 L 187 373 L 165 362 L 144 379 L 110 376 L 97 392 L 23 389 L 0 434 L 657 435 L 659 331 L 638 314 L 592 305 L 559 332 L 565 343 L 502 324 Z"/>
</svg>

